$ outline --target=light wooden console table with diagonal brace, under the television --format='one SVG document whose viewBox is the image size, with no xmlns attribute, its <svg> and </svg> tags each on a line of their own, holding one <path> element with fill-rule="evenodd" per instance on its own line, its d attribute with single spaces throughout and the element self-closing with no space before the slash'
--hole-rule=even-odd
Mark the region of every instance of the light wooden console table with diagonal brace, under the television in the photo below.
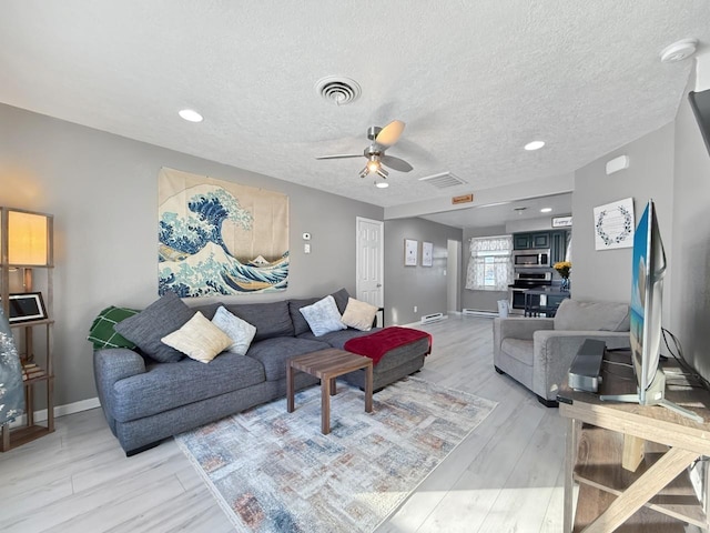
<svg viewBox="0 0 710 533">
<path fill-rule="evenodd" d="M 632 370 L 613 364 L 629 362 L 629 353 L 613 352 L 605 359 L 612 363 L 604 364 L 600 392 L 635 392 L 629 391 L 636 384 Z M 597 394 L 560 389 L 559 411 L 569 419 L 565 533 L 671 533 L 684 531 L 683 522 L 708 531 L 704 504 L 688 469 L 710 455 L 710 394 L 687 383 L 674 384 L 683 379 L 670 371 L 667 376 L 667 399 L 700 414 L 703 423 L 660 406 L 601 402 Z M 576 513 L 575 482 L 579 484 Z M 707 500 L 704 494 L 701 500 Z"/>
</svg>

